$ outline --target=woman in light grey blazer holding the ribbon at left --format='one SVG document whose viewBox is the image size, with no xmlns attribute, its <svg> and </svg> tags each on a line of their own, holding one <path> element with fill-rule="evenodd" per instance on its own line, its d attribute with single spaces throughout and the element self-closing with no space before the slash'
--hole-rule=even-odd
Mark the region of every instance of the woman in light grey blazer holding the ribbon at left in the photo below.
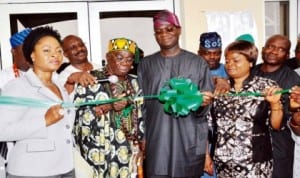
<svg viewBox="0 0 300 178">
<path fill-rule="evenodd" d="M 63 60 L 60 34 L 51 27 L 30 32 L 23 53 L 32 65 L 2 90 L 4 96 L 28 97 L 49 103 L 70 102 L 67 92 L 52 79 Z M 28 103 L 29 104 L 29 103 Z M 73 109 L 62 106 L 0 106 L 0 141 L 15 145 L 8 158 L 9 178 L 73 178 Z"/>
</svg>

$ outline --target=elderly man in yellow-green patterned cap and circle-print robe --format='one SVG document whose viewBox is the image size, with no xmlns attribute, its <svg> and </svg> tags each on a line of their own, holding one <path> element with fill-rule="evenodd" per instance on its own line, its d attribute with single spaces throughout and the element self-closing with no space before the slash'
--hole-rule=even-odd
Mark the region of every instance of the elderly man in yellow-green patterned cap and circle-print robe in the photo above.
<svg viewBox="0 0 300 178">
<path fill-rule="evenodd" d="M 136 43 L 132 40 L 110 40 L 106 67 L 103 71 L 90 72 L 95 84 L 78 85 L 75 91 L 75 103 L 125 98 L 97 106 L 82 106 L 76 112 L 75 141 L 97 178 L 130 177 L 136 172 L 136 161 L 141 156 L 142 103 L 134 99 L 139 94 L 137 79 L 128 74 L 138 55 L 136 51 Z M 112 75 L 117 76 L 118 81 L 103 80 Z"/>
</svg>

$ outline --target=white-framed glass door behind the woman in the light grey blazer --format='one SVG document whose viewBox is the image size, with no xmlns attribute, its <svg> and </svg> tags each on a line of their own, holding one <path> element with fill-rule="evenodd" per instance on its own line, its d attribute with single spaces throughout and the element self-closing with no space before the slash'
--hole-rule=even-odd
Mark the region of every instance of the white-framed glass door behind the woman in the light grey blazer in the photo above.
<svg viewBox="0 0 300 178">
<path fill-rule="evenodd" d="M 9 37 L 27 27 L 51 25 L 62 38 L 79 35 L 90 49 L 86 2 L 1 4 L 0 12 L 2 68 L 12 65 Z"/>
</svg>

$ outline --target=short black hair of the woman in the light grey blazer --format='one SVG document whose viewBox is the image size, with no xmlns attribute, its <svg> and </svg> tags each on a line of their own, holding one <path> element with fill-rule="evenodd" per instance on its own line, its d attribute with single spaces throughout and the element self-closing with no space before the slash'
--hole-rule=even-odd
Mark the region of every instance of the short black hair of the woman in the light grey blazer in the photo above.
<svg viewBox="0 0 300 178">
<path fill-rule="evenodd" d="M 33 29 L 26 37 L 22 48 L 24 57 L 30 64 L 33 64 L 31 53 L 34 50 L 34 46 L 41 38 L 45 36 L 52 36 L 57 39 L 60 44 L 62 44 L 59 32 L 57 30 L 54 30 L 51 26 L 43 26 Z"/>
</svg>

